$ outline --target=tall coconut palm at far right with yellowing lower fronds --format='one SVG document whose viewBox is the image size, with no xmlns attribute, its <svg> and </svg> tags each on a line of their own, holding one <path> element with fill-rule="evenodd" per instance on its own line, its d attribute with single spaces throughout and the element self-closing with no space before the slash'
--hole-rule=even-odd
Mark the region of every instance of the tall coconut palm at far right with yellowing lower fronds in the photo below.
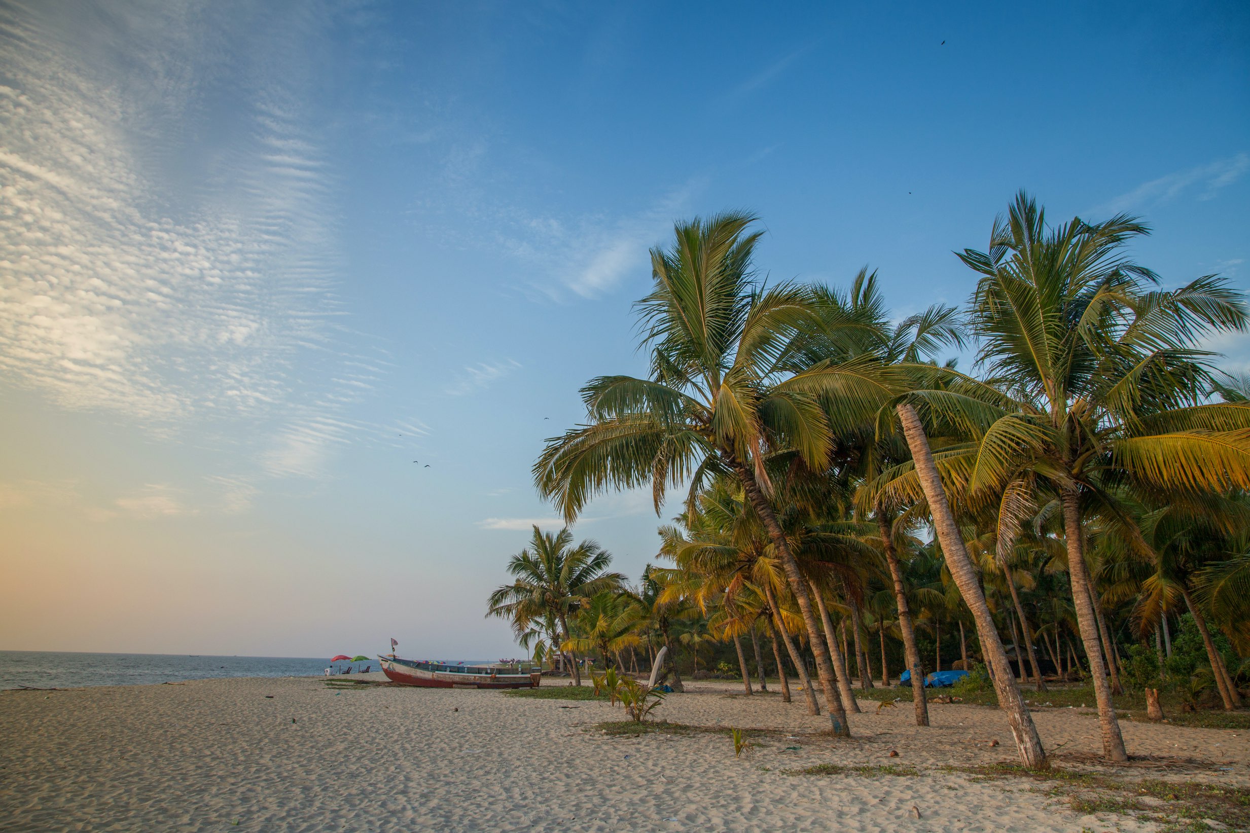
<svg viewBox="0 0 1250 833">
<path fill-rule="evenodd" d="M 1198 350 L 1209 333 L 1244 330 L 1245 302 L 1216 276 L 1148 291 L 1156 276 L 1124 254 L 1146 234 L 1125 215 L 1050 227 L 1021 192 L 995 221 L 988 252 L 959 255 L 980 276 L 971 310 L 978 363 L 999 388 L 989 397 L 996 412 L 971 420 L 969 495 L 1025 517 L 1035 480 L 1058 495 L 1102 748 L 1112 761 L 1126 753 L 1100 654 L 1086 520 L 1124 516 L 1114 496 L 1122 481 L 1160 495 L 1250 487 L 1250 406 L 1206 402 L 1214 371 Z M 1140 540 L 1131 522 L 1124 532 Z"/>
</svg>

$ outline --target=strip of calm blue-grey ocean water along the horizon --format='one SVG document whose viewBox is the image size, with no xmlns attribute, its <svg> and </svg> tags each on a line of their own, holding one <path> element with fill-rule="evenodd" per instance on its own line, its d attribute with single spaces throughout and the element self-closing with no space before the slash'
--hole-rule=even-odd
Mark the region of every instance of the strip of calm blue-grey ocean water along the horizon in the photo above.
<svg viewBox="0 0 1250 833">
<path fill-rule="evenodd" d="M 79 686 L 144 686 L 206 677 L 320 676 L 331 663 L 300 657 L 209 657 L 161 653 L 65 653 L 0 651 L 0 688 L 75 688 Z M 332 663 L 344 668 L 348 663 Z M 358 662 L 362 669 L 370 663 Z M 378 661 L 372 661 L 378 671 Z"/>
</svg>

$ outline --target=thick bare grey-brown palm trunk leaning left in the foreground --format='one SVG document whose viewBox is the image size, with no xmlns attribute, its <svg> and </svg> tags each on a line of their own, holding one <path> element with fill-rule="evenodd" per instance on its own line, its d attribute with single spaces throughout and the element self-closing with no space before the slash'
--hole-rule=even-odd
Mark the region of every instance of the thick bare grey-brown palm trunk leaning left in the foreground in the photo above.
<svg viewBox="0 0 1250 833">
<path fill-rule="evenodd" d="M 1011 734 L 1015 736 L 1016 748 L 1020 759 L 1030 769 L 1046 768 L 1046 752 L 1041 747 L 1041 738 L 1038 737 L 1038 727 L 1034 726 L 1032 716 L 1025 708 L 1020 697 L 1020 688 L 1011 674 L 1011 664 L 1008 662 L 1006 651 L 1002 649 L 1002 641 L 994 628 L 994 618 L 990 608 L 985 603 L 985 594 L 976 581 L 976 572 L 972 562 L 968 557 L 964 547 L 964 538 L 955 523 L 955 516 L 946 502 L 946 491 L 942 488 L 941 477 L 938 475 L 938 466 L 934 463 L 932 452 L 929 450 L 929 438 L 920 425 L 916 410 L 906 403 L 898 406 L 899 418 L 902 422 L 902 431 L 908 438 L 908 447 L 911 448 L 911 458 L 915 461 L 916 476 L 929 502 L 929 512 L 932 517 L 934 530 L 938 541 L 941 543 L 942 553 L 946 557 L 946 567 L 950 569 L 955 584 L 959 587 L 964 603 L 972 612 L 976 619 L 976 632 L 981 639 L 981 651 L 986 661 L 994 669 L 994 688 L 999 697 L 999 707 L 1006 713 L 1008 723 L 1011 726 Z"/>
</svg>

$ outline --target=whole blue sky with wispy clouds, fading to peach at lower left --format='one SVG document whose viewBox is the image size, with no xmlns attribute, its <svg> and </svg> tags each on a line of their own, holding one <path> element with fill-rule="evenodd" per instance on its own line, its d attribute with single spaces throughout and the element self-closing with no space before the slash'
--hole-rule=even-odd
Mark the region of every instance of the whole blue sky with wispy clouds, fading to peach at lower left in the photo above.
<svg viewBox="0 0 1250 833">
<path fill-rule="evenodd" d="M 1025 187 L 1250 288 L 1248 42 L 1232 2 L 0 2 L 0 648 L 511 653 L 530 465 L 642 368 L 674 220 L 750 209 L 762 271 L 904 315 Z M 576 533 L 636 574 L 655 526 Z"/>
</svg>

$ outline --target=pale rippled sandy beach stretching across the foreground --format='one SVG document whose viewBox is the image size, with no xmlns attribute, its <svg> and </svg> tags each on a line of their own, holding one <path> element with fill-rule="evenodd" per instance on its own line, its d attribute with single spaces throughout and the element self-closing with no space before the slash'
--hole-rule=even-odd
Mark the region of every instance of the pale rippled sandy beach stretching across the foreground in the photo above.
<svg viewBox="0 0 1250 833">
<path fill-rule="evenodd" d="M 1148 831 L 1081 814 L 1029 779 L 942 766 L 1014 763 L 995 709 L 861 702 L 855 737 L 778 694 L 722 683 L 674 694 L 656 717 L 775 732 L 735 759 L 724 733 L 606 736 L 600 702 L 321 679 L 0 692 L 0 828 L 11 831 Z M 1098 726 L 1044 709 L 1056 764 L 1088 764 Z M 1244 732 L 1124 723 L 1150 777 L 1250 783 Z M 789 737 L 788 737 L 789 736 Z M 998 739 L 998 746 L 990 742 Z M 799 747 L 798 749 L 788 747 Z M 899 756 L 891 758 L 890 751 Z M 822 763 L 901 764 L 919 776 L 792 776 Z M 914 809 L 915 808 L 915 809 Z M 916 817 L 919 812 L 919 818 Z"/>
</svg>

